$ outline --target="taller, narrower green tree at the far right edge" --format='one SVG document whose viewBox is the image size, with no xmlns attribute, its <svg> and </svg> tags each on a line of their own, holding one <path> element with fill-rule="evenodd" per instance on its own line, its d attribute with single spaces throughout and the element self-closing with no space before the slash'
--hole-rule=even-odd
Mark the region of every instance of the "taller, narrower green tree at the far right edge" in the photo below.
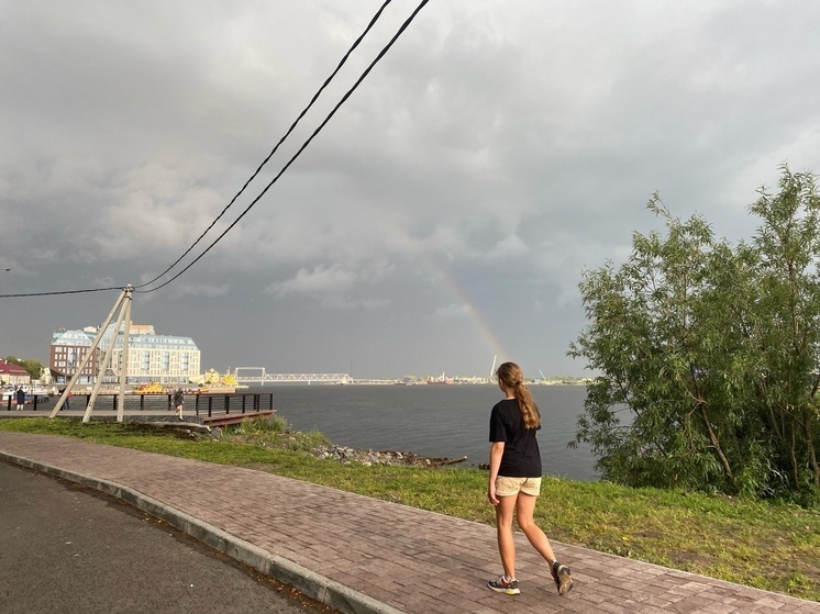
<svg viewBox="0 0 820 614">
<path fill-rule="evenodd" d="M 763 219 L 755 239 L 761 310 L 756 375 L 760 418 L 773 454 L 798 488 L 820 484 L 820 197 L 815 176 L 784 169 L 780 192 L 750 209 Z"/>
</svg>

